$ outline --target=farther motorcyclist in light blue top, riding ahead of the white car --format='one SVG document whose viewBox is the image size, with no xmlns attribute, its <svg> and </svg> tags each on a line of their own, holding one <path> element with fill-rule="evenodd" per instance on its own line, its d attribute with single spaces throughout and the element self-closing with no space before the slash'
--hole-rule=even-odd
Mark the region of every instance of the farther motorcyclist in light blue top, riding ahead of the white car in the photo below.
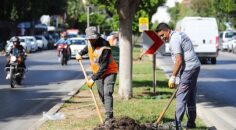
<svg viewBox="0 0 236 130">
<path fill-rule="evenodd" d="M 61 32 L 61 38 L 54 44 L 54 46 L 57 46 L 57 56 L 60 56 L 60 52 L 59 52 L 59 44 L 67 44 L 70 45 L 70 40 L 67 38 L 67 32 Z M 70 50 L 69 47 L 68 48 L 68 54 L 70 54 Z"/>
</svg>

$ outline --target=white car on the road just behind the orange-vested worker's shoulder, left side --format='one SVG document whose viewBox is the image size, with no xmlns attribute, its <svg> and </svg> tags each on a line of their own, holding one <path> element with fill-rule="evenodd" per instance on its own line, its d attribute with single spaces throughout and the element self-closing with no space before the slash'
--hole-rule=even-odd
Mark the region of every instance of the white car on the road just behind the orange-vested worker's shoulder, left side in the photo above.
<svg viewBox="0 0 236 130">
<path fill-rule="evenodd" d="M 71 58 L 75 58 L 75 55 L 80 52 L 87 45 L 85 38 L 75 37 L 70 38 L 70 50 Z M 84 55 L 83 58 L 88 58 L 88 55 Z"/>
</svg>

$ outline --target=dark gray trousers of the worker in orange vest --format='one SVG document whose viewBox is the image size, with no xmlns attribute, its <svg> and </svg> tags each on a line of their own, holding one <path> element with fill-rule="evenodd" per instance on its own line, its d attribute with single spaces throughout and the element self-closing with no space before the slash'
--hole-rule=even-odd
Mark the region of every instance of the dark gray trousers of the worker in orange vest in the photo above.
<svg viewBox="0 0 236 130">
<path fill-rule="evenodd" d="M 105 120 L 113 118 L 113 92 L 116 74 L 109 74 L 103 79 L 96 80 L 99 97 L 105 107 Z"/>
</svg>

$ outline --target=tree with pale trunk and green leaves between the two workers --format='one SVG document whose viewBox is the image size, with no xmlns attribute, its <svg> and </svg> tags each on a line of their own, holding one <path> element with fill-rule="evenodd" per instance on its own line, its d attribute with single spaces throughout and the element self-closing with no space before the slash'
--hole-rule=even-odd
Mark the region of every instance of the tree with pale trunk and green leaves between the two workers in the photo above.
<svg viewBox="0 0 236 130">
<path fill-rule="evenodd" d="M 122 81 L 119 82 L 119 95 L 129 99 L 132 97 L 132 34 L 138 31 L 138 18 L 150 19 L 164 0 L 91 0 L 91 3 L 104 7 L 111 14 L 113 29 L 119 29 L 119 81 Z"/>
</svg>

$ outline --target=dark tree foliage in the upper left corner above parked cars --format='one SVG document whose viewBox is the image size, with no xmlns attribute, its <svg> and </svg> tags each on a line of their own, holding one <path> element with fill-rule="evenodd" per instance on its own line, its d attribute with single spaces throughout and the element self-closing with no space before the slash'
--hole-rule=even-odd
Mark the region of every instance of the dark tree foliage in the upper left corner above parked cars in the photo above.
<svg viewBox="0 0 236 130">
<path fill-rule="evenodd" d="M 66 0 L 1 0 L 0 20 L 31 21 L 43 14 L 61 14 L 65 7 Z"/>
</svg>

